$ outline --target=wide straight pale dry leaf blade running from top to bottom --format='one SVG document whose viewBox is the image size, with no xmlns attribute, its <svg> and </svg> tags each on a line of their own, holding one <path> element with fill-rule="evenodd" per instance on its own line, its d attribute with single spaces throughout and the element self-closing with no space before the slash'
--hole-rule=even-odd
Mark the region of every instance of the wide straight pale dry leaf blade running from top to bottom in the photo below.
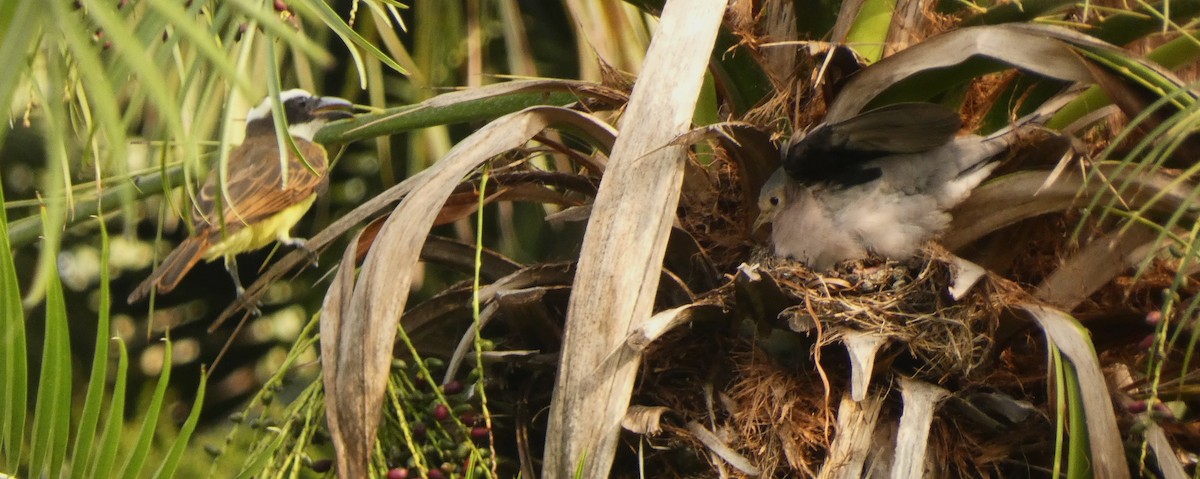
<svg viewBox="0 0 1200 479">
<path fill-rule="evenodd" d="M 637 354 L 606 360 L 649 317 L 683 182 L 688 131 L 724 1 L 672 0 L 620 120 L 583 238 L 542 477 L 608 477 Z"/>
</svg>

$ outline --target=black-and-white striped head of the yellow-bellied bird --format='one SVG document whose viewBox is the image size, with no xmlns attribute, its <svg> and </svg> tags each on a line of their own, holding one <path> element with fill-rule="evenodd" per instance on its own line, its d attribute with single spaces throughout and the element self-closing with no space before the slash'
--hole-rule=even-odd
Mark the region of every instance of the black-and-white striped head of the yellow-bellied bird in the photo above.
<svg viewBox="0 0 1200 479">
<path fill-rule="evenodd" d="M 325 124 L 354 116 L 349 101 L 336 96 L 316 96 L 299 88 L 281 92 L 280 104 L 288 120 L 288 133 L 308 142 Z M 275 134 L 270 97 L 263 98 L 246 114 L 246 136 L 253 134 Z"/>
</svg>

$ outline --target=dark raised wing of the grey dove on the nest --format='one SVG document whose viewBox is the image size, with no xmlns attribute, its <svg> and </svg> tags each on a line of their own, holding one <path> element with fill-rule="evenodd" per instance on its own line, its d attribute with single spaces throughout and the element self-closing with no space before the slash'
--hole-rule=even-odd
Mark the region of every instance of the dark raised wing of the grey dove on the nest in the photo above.
<svg viewBox="0 0 1200 479">
<path fill-rule="evenodd" d="M 880 178 L 866 164 L 880 157 L 928 151 L 954 139 L 959 114 L 936 103 L 898 103 L 823 124 L 785 148 L 784 169 L 804 182 L 860 185 Z"/>
</svg>

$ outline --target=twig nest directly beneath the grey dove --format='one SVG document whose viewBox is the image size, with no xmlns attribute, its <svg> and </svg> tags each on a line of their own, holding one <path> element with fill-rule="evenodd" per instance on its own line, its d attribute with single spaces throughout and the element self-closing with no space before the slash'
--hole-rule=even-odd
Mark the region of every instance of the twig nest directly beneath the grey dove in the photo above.
<svg viewBox="0 0 1200 479">
<path fill-rule="evenodd" d="M 763 267 L 794 300 L 780 317 L 793 330 L 821 331 L 818 347 L 853 331 L 882 336 L 916 359 L 914 375 L 934 383 L 970 377 L 992 353 L 998 301 L 986 287 L 952 298 L 954 267 L 940 250 L 907 262 L 846 263 L 828 274 L 778 258 Z"/>
</svg>

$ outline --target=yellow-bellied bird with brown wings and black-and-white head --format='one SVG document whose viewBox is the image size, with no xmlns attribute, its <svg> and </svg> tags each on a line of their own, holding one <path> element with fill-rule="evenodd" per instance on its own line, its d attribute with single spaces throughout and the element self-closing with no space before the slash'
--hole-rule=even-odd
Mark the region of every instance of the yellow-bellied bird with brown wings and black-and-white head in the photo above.
<svg viewBox="0 0 1200 479">
<path fill-rule="evenodd" d="M 278 100 L 288 134 L 304 161 L 286 148 L 288 174 L 284 181 L 271 97 L 251 108 L 246 114 L 245 140 L 229 152 L 226 193 L 222 194 L 214 168 L 192 209 L 194 230 L 130 293 L 128 304 L 142 300 L 151 289 L 160 294 L 170 292 L 200 259 L 212 262 L 217 258 L 224 259 L 240 297 L 245 288 L 238 277 L 236 255 L 262 249 L 271 241 L 305 247 L 305 241 L 292 238 L 289 230 L 308 211 L 317 194 L 329 186 L 325 149 L 312 138 L 330 121 L 352 118 L 352 103 L 334 96 L 314 96 L 302 89 L 283 91 Z"/>
</svg>

